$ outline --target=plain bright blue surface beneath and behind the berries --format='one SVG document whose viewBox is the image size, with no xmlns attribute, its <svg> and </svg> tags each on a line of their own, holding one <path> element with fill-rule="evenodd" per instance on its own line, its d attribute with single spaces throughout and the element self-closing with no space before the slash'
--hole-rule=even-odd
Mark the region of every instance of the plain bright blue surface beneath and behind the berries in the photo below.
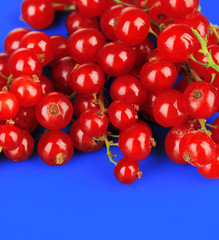
<svg viewBox="0 0 219 240">
<path fill-rule="evenodd" d="M 20 2 L 0 0 L 1 52 L 6 34 L 26 27 L 19 20 Z M 218 1 L 200 3 L 219 23 Z M 65 35 L 64 16 L 45 32 Z M 0 239 L 218 240 L 219 180 L 168 160 L 162 146 L 167 131 L 153 130 L 158 147 L 140 163 L 144 175 L 131 186 L 115 180 L 104 148 L 77 153 L 59 168 L 47 166 L 36 153 L 22 163 L 1 155 Z"/>
</svg>

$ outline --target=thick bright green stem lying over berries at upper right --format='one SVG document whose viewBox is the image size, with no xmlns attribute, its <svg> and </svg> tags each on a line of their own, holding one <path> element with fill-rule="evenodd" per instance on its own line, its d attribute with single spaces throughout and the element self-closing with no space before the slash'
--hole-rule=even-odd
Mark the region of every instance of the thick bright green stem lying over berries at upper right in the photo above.
<svg viewBox="0 0 219 240">
<path fill-rule="evenodd" d="M 197 39 L 199 40 L 200 44 L 201 44 L 201 50 L 199 50 L 200 53 L 203 53 L 204 56 L 207 58 L 207 61 L 208 61 L 208 64 L 206 65 L 206 67 L 211 67 L 213 68 L 214 70 L 216 70 L 217 72 L 219 72 L 219 65 L 215 64 L 212 56 L 211 56 L 211 53 L 208 51 L 208 47 L 207 47 L 207 43 L 208 43 L 208 40 L 207 40 L 207 37 L 205 39 L 203 39 L 201 37 L 201 35 L 198 33 L 197 30 L 195 29 L 192 29 L 193 33 L 195 34 L 195 36 L 197 37 Z M 190 58 L 194 61 L 194 58 L 192 58 L 190 56 Z"/>
</svg>

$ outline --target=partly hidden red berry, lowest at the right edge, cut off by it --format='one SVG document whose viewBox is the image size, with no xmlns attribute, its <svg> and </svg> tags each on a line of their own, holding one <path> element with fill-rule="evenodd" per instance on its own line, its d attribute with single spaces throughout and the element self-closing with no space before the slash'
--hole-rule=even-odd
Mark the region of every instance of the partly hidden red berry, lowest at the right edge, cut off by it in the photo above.
<svg viewBox="0 0 219 240">
<path fill-rule="evenodd" d="M 219 145 L 216 145 L 216 150 L 212 161 L 203 167 L 198 167 L 197 169 L 199 173 L 206 178 L 219 178 Z"/>
</svg>

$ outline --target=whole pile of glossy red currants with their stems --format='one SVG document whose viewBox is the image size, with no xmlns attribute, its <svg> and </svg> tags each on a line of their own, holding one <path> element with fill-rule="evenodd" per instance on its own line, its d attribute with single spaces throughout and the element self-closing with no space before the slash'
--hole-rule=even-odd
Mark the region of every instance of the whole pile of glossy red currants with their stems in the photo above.
<svg viewBox="0 0 219 240">
<path fill-rule="evenodd" d="M 219 178 L 219 117 L 206 124 L 219 110 L 219 28 L 199 11 L 199 1 L 24 0 L 21 18 L 40 30 L 59 10 L 73 10 L 66 19 L 68 39 L 25 28 L 5 39 L 5 156 L 29 158 L 31 133 L 40 124 L 46 130 L 37 139 L 38 154 L 45 163 L 60 166 L 74 148 L 92 152 L 105 143 L 115 177 L 130 184 L 142 175 L 138 161 L 156 146 L 146 120 L 172 127 L 165 140 L 172 161 Z M 51 79 L 42 75 L 44 68 Z M 60 129 L 71 121 L 69 136 Z M 111 146 L 124 158 L 115 162 Z"/>
</svg>

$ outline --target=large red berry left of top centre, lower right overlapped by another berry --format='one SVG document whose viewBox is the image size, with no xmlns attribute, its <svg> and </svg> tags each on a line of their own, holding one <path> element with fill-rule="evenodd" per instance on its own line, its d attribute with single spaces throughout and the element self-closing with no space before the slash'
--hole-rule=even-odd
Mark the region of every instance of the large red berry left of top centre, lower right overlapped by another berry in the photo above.
<svg viewBox="0 0 219 240">
<path fill-rule="evenodd" d="M 71 34 L 68 40 L 68 52 L 78 63 L 95 63 L 98 52 L 106 40 L 103 34 L 94 28 L 82 28 Z"/>
</svg>

